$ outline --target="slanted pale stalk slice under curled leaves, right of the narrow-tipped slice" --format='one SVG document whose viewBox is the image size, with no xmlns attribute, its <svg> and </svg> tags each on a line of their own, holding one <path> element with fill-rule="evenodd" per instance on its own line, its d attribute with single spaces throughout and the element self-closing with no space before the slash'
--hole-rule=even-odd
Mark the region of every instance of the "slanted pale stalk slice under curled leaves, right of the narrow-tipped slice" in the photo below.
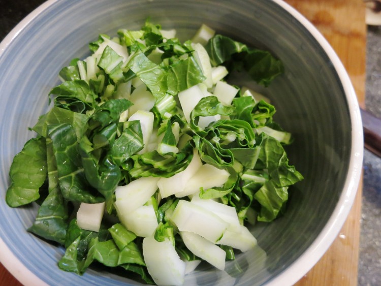
<svg viewBox="0 0 381 286">
<path fill-rule="evenodd" d="M 211 187 L 222 186 L 228 180 L 230 174 L 226 170 L 218 169 L 212 165 L 205 164 L 200 167 L 197 173 L 185 184 L 184 191 L 176 193 L 178 198 L 200 192 L 200 188 L 208 189 Z"/>
</svg>

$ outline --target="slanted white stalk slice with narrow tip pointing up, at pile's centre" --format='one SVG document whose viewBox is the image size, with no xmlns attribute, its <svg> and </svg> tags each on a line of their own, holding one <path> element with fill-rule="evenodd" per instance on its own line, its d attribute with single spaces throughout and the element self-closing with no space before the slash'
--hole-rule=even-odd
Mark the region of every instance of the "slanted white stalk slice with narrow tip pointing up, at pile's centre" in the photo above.
<svg viewBox="0 0 381 286">
<path fill-rule="evenodd" d="M 188 167 L 169 178 L 160 178 L 157 186 L 160 190 L 162 198 L 183 192 L 185 183 L 200 169 L 202 162 L 196 149 L 193 150 L 193 158 Z"/>
</svg>

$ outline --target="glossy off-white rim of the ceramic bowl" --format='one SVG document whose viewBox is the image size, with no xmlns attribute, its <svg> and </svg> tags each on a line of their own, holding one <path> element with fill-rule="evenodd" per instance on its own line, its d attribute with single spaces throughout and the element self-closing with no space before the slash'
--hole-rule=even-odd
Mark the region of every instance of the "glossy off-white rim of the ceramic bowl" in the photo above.
<svg viewBox="0 0 381 286">
<path fill-rule="evenodd" d="M 364 145 L 362 120 L 356 92 L 352 85 L 351 79 L 348 76 L 338 55 L 332 46 L 328 43 L 328 41 L 324 38 L 324 36 L 320 33 L 320 31 L 317 30 L 317 28 L 294 7 L 284 2 L 283 0 L 272 1 L 290 13 L 321 45 L 331 60 L 344 90 L 352 124 L 352 146 L 350 162 L 348 165 L 345 184 L 343 186 L 342 194 L 340 195 L 337 206 L 335 207 L 322 232 L 316 237 L 313 243 L 293 264 L 291 264 L 288 268 L 283 270 L 268 282 L 268 285 L 283 286 L 285 284 L 292 285 L 296 283 L 322 258 L 324 253 L 336 239 L 338 233 L 340 232 L 347 219 L 348 213 L 352 208 L 357 194 L 357 189 L 362 173 Z M 31 21 L 33 21 L 40 13 L 42 13 L 45 9 L 49 8 L 56 2 L 58 2 L 58 0 L 48 0 L 30 12 L 24 19 L 22 19 L 3 39 L 3 41 L 0 42 L 0 57 L 11 44 L 11 42 Z M 22 284 L 47 285 L 16 258 L 14 253 L 9 249 L 1 237 L 0 249 L 2 249 L 2 251 L 0 251 L 0 262 Z"/>
</svg>

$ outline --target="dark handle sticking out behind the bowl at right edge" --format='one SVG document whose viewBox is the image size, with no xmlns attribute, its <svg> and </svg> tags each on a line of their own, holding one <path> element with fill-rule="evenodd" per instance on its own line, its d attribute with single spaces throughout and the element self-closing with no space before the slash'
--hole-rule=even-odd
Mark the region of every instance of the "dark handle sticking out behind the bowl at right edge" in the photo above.
<svg viewBox="0 0 381 286">
<path fill-rule="evenodd" d="M 360 109 L 364 129 L 365 148 L 381 157 L 381 119 Z"/>
</svg>

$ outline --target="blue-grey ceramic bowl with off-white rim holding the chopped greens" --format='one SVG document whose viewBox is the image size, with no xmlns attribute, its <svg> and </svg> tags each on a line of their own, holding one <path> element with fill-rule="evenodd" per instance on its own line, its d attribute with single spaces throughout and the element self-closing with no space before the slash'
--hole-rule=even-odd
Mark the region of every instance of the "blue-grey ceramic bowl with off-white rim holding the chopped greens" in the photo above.
<svg viewBox="0 0 381 286">
<path fill-rule="evenodd" d="M 176 28 L 182 40 L 205 23 L 283 61 L 284 74 L 262 92 L 277 109 L 275 120 L 293 133 L 287 151 L 305 178 L 290 190 L 284 216 L 250 229 L 261 249 L 237 256 L 246 265 L 241 277 L 208 269 L 186 276 L 185 284 L 296 282 L 322 257 L 350 211 L 363 138 L 356 94 L 340 60 L 312 24 L 280 0 L 51 0 L 20 22 L 0 45 L 0 261 L 24 284 L 136 283 L 95 269 L 83 276 L 59 270 L 64 249 L 26 231 L 37 207 L 12 209 L 4 197 L 13 156 L 34 136 L 28 127 L 48 110 L 60 69 L 88 55 L 88 43 L 99 34 L 138 29 L 147 17 Z"/>
</svg>

